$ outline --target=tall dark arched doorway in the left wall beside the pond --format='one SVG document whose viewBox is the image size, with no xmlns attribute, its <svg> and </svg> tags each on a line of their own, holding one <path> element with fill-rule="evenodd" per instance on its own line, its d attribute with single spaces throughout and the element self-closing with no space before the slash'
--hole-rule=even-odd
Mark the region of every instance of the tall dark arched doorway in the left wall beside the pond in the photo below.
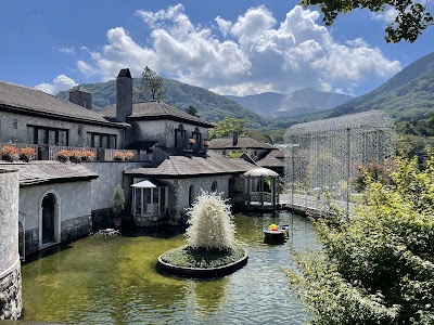
<svg viewBox="0 0 434 325">
<path fill-rule="evenodd" d="M 39 246 L 60 242 L 60 196 L 47 192 L 40 202 Z"/>
</svg>

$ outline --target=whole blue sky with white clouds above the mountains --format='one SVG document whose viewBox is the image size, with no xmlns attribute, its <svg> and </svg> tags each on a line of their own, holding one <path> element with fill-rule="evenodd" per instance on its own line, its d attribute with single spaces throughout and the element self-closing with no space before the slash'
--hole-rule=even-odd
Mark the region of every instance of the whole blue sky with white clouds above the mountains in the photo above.
<svg viewBox="0 0 434 325">
<path fill-rule="evenodd" d="M 52 94 L 149 66 L 218 94 L 361 95 L 434 51 L 434 26 L 414 43 L 386 43 L 390 9 L 332 27 L 317 8 L 284 0 L 14 0 L 0 12 L 0 80 Z"/>
</svg>

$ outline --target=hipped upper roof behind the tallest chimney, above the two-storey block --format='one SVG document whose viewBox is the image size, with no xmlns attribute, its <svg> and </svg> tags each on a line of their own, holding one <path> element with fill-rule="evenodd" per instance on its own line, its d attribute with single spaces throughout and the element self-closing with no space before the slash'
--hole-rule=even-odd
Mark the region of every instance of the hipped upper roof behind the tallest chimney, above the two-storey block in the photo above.
<svg viewBox="0 0 434 325">
<path fill-rule="evenodd" d="M 99 110 L 100 114 L 111 120 L 116 119 L 116 106 L 112 105 L 105 109 Z M 163 102 L 138 102 L 132 104 L 132 114 L 127 117 L 127 120 L 153 120 L 153 119 L 169 119 L 180 122 L 188 122 L 205 128 L 214 126 L 199 117 L 192 116 L 186 112 L 179 110 Z"/>
</svg>

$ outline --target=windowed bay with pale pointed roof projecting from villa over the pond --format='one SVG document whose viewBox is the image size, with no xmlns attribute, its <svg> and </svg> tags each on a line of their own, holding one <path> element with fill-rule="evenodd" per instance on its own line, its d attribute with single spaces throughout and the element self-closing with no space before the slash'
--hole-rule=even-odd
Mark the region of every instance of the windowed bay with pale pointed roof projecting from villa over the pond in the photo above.
<svg viewBox="0 0 434 325">
<path fill-rule="evenodd" d="M 131 185 L 131 213 L 137 225 L 157 225 L 167 209 L 167 185 L 157 181 L 141 181 Z"/>
</svg>

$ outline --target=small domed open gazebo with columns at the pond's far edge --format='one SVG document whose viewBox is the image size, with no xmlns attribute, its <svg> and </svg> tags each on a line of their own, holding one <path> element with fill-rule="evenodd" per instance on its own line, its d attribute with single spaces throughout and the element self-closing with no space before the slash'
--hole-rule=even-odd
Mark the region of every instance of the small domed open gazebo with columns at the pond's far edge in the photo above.
<svg viewBox="0 0 434 325">
<path fill-rule="evenodd" d="M 244 173 L 245 205 L 248 209 L 276 209 L 279 205 L 279 174 L 258 167 Z"/>
</svg>

